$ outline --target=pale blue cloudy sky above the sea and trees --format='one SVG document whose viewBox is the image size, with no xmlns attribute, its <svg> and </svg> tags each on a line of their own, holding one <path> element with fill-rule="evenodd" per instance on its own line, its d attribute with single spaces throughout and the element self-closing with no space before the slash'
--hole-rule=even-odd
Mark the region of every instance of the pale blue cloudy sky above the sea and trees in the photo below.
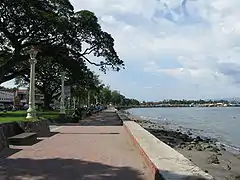
<svg viewBox="0 0 240 180">
<path fill-rule="evenodd" d="M 148 101 L 240 97 L 239 0 L 70 1 L 115 39 L 126 69 L 97 71 L 112 89 Z"/>
</svg>

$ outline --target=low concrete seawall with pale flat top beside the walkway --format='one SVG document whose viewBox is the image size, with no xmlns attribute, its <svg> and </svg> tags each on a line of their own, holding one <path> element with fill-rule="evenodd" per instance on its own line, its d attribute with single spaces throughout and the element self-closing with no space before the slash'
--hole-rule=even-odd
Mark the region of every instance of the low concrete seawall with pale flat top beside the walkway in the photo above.
<svg viewBox="0 0 240 180">
<path fill-rule="evenodd" d="M 134 121 L 118 112 L 119 118 L 135 146 L 153 173 L 153 179 L 213 180 L 214 178 L 194 165 L 182 154 L 157 139 Z"/>
</svg>

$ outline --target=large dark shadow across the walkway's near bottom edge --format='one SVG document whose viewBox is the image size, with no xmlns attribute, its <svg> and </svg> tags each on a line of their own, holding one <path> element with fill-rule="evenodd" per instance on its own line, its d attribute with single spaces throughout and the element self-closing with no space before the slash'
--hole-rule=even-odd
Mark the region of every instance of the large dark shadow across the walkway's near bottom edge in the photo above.
<svg viewBox="0 0 240 180">
<path fill-rule="evenodd" d="M 130 167 L 74 159 L 2 159 L 0 167 L 0 179 L 9 180 L 143 180 L 141 172 Z"/>
</svg>

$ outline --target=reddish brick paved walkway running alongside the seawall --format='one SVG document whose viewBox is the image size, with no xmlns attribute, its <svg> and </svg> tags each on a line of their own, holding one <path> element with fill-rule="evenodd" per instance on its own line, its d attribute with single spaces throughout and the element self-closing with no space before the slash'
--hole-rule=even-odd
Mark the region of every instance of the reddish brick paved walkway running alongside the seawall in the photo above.
<svg viewBox="0 0 240 180">
<path fill-rule="evenodd" d="M 116 118 L 115 113 L 101 113 L 81 126 L 59 127 L 58 134 L 33 146 L 3 152 L 0 180 L 150 179 L 142 157 Z"/>
</svg>

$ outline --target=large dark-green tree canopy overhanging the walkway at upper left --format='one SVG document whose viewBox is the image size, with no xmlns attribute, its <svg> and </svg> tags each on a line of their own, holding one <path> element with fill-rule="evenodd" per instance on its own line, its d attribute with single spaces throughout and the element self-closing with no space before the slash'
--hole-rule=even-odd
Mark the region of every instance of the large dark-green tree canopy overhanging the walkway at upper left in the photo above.
<svg viewBox="0 0 240 180">
<path fill-rule="evenodd" d="M 124 66 L 114 39 L 104 32 L 94 13 L 74 12 L 68 0 L 0 1 L 0 83 L 28 73 L 28 50 L 38 47 L 38 59 L 52 58 L 71 70 L 86 63 L 120 70 Z M 100 57 L 92 61 L 89 55 Z"/>
</svg>

